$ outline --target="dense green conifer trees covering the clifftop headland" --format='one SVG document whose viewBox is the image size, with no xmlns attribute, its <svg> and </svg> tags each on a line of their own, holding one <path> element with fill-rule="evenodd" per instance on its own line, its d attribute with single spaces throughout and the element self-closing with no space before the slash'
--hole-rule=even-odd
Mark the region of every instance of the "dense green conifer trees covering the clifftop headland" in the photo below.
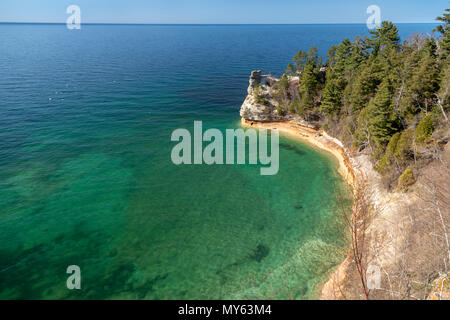
<svg viewBox="0 0 450 320">
<path fill-rule="evenodd" d="M 420 160 L 416 143 L 448 121 L 450 9 L 438 20 L 439 39 L 417 35 L 403 44 L 385 21 L 370 38 L 331 47 L 326 70 L 316 48 L 299 51 L 286 71 L 299 76 L 298 92 L 287 89 L 285 76 L 279 83 L 278 91 L 289 91 L 284 111 L 332 123 L 342 141 L 371 153 L 379 172 L 396 176 Z"/>
</svg>

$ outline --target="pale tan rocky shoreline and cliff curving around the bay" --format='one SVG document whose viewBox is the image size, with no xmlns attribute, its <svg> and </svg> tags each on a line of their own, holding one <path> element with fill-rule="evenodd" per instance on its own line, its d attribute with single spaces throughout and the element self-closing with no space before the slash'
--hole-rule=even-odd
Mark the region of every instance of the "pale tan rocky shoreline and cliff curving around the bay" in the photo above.
<svg viewBox="0 0 450 320">
<path fill-rule="evenodd" d="M 401 258 L 401 250 L 406 241 L 407 224 L 400 217 L 399 210 L 414 205 L 414 197 L 399 192 L 388 192 L 382 186 L 381 176 L 374 170 L 370 158 L 365 154 L 352 154 L 342 142 L 331 137 L 314 123 L 306 122 L 296 115 L 279 115 L 276 100 L 271 99 L 274 84 L 278 79 L 253 71 L 250 77 L 248 96 L 242 104 L 240 115 L 243 127 L 278 130 L 331 153 L 339 161 L 339 173 L 355 190 L 358 181 L 364 179 L 369 186 L 371 202 L 378 214 L 367 230 L 369 243 L 367 255 L 381 269 L 389 268 Z M 292 77 L 290 82 L 298 79 Z M 255 95 L 262 96 L 258 101 Z M 385 239 L 388 239 L 387 241 Z M 345 299 L 342 288 L 350 284 L 352 253 L 329 276 L 320 288 L 320 299 Z M 354 285 L 354 284 L 353 284 Z"/>
</svg>

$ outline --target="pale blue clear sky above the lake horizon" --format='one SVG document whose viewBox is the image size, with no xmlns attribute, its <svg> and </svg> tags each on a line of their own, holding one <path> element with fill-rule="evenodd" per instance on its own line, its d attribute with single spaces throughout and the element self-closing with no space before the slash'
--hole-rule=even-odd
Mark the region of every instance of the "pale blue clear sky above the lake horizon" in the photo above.
<svg viewBox="0 0 450 320">
<path fill-rule="evenodd" d="M 369 5 L 382 20 L 434 22 L 448 0 L 0 0 L 2 22 L 65 22 L 81 8 L 82 23 L 365 23 Z"/>
</svg>

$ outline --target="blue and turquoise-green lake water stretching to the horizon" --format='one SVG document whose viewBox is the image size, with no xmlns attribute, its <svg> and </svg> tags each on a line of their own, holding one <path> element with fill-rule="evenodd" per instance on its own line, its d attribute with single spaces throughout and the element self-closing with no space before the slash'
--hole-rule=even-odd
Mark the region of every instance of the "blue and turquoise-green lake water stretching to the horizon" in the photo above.
<svg viewBox="0 0 450 320">
<path fill-rule="evenodd" d="M 276 176 L 175 166 L 170 135 L 239 127 L 251 70 L 357 34 L 0 24 L 0 298 L 313 297 L 343 259 L 336 161 L 282 136 Z M 82 290 L 66 288 L 69 265 Z"/>
</svg>

